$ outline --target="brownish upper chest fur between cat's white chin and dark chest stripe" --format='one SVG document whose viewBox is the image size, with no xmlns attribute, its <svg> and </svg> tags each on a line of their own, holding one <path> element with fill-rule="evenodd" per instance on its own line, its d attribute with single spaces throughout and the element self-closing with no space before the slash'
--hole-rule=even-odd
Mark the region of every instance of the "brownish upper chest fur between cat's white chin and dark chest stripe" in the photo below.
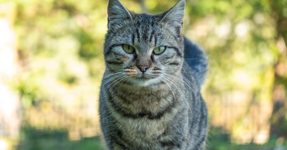
<svg viewBox="0 0 287 150">
<path fill-rule="evenodd" d="M 170 91 L 137 91 L 137 90 L 112 90 L 108 93 L 112 105 L 124 110 L 129 114 L 155 115 L 164 111 L 170 104 L 175 104 L 179 96 L 174 96 Z M 117 108 L 117 109 L 119 109 Z"/>
</svg>

